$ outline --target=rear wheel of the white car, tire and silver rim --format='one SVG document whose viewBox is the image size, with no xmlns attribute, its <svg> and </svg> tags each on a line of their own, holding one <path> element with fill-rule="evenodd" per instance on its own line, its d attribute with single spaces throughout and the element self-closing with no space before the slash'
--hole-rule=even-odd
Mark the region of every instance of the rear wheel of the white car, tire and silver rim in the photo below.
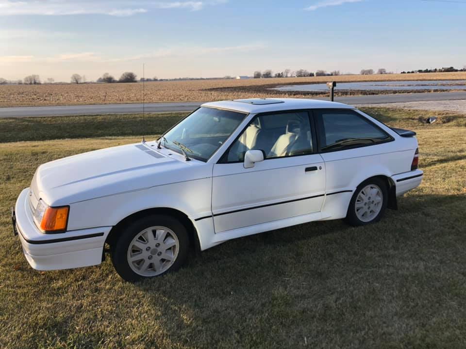
<svg viewBox="0 0 466 349">
<path fill-rule="evenodd" d="M 379 204 L 377 204 L 378 199 L 380 200 Z M 380 178 L 369 178 L 354 191 L 345 220 L 353 226 L 379 222 L 387 205 L 387 185 Z"/>
</svg>

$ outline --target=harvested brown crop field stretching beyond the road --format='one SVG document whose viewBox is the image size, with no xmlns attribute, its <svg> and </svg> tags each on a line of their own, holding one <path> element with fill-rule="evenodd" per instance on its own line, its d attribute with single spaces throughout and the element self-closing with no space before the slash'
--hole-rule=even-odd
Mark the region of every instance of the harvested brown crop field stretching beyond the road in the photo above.
<svg viewBox="0 0 466 349">
<path fill-rule="evenodd" d="M 330 80 L 466 79 L 466 72 L 387 75 L 340 75 L 334 77 L 272 78 L 247 80 L 157 81 L 146 84 L 146 102 L 210 101 L 248 97 L 305 97 L 309 94 L 267 90 L 277 85 L 316 83 Z M 81 85 L 4 85 L 0 86 L 0 107 L 50 106 L 142 102 L 140 83 Z"/>
</svg>

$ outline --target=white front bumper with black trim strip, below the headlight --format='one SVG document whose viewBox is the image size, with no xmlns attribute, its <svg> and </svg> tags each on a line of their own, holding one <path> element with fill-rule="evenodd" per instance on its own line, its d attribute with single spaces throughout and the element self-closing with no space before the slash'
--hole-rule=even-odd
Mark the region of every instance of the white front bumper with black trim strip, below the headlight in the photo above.
<svg viewBox="0 0 466 349">
<path fill-rule="evenodd" d="M 27 261 L 36 270 L 59 270 L 100 264 L 103 245 L 112 227 L 43 234 L 35 225 L 28 203 L 29 188 L 21 191 L 12 212 Z"/>
</svg>

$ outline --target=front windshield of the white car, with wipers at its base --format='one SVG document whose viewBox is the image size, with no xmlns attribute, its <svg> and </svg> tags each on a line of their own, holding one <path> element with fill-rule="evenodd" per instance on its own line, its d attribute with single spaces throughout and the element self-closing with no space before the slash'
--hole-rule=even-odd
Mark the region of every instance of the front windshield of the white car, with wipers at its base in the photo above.
<svg viewBox="0 0 466 349">
<path fill-rule="evenodd" d="M 159 140 L 162 146 L 193 159 L 207 161 L 227 140 L 246 114 L 201 107 Z"/>
</svg>

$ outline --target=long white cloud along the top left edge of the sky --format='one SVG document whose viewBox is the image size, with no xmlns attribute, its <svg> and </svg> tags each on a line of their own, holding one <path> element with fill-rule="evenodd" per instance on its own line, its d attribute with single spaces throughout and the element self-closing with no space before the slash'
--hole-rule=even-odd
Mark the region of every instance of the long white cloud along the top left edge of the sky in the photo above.
<svg viewBox="0 0 466 349">
<path fill-rule="evenodd" d="M 151 0 L 0 0 L 0 16 L 108 15 L 133 16 L 152 9 L 188 9 L 198 11 L 206 5 L 227 0 L 151 1 Z"/>
</svg>

